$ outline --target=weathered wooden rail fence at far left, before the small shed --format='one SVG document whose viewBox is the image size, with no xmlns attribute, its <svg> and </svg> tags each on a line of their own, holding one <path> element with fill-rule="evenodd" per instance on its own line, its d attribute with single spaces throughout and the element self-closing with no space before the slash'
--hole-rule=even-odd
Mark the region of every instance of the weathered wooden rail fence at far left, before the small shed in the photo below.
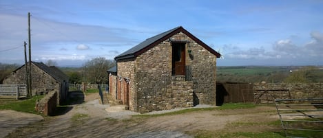
<svg viewBox="0 0 323 138">
<path fill-rule="evenodd" d="M 25 84 L 0 84 L 0 98 L 16 98 L 17 100 L 27 97 Z"/>
</svg>

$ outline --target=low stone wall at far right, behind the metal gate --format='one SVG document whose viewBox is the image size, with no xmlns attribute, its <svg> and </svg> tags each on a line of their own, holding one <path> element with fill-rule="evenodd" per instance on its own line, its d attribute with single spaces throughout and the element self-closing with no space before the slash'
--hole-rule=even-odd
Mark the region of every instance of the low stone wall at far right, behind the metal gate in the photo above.
<svg viewBox="0 0 323 138">
<path fill-rule="evenodd" d="M 253 84 L 253 94 L 256 103 L 323 97 L 323 83 L 259 83 Z"/>
</svg>

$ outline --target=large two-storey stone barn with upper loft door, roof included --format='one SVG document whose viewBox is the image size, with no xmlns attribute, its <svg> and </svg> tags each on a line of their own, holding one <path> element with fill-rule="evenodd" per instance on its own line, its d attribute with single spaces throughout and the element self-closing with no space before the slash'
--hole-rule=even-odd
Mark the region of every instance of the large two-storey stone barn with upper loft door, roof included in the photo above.
<svg viewBox="0 0 323 138">
<path fill-rule="evenodd" d="M 145 113 L 216 104 L 220 54 L 183 27 L 175 27 L 116 56 L 110 93 L 131 111 Z"/>
</svg>

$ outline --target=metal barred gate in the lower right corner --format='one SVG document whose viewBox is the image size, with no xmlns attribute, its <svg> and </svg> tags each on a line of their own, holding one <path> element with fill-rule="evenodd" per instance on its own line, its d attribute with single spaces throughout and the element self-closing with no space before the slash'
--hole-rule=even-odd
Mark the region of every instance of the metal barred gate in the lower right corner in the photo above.
<svg viewBox="0 0 323 138">
<path fill-rule="evenodd" d="M 275 105 L 286 137 L 323 137 L 323 98 L 275 100 Z"/>
</svg>

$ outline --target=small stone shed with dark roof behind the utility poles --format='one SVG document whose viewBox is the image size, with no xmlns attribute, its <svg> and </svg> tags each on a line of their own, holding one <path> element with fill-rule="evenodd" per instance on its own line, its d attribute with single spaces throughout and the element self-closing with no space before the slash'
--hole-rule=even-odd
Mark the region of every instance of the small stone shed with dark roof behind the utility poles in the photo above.
<svg viewBox="0 0 323 138">
<path fill-rule="evenodd" d="M 29 65 L 27 63 L 27 65 Z M 57 67 L 43 64 L 43 62 L 32 62 L 32 95 L 57 91 L 57 104 L 67 98 L 68 76 Z M 12 71 L 3 80 L 3 84 L 26 84 L 25 65 Z"/>
</svg>

